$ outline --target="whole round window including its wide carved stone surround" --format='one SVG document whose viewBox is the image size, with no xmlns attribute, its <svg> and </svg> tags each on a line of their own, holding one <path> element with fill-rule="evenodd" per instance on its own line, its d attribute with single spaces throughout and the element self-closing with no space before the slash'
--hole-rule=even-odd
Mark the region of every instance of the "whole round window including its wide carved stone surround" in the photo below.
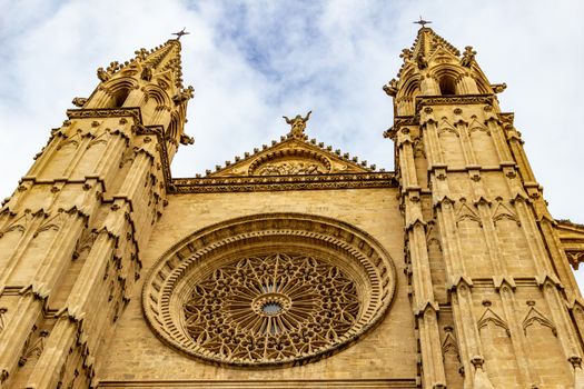
<svg viewBox="0 0 584 389">
<path fill-rule="evenodd" d="M 377 323 L 394 268 L 364 232 L 331 219 L 263 215 L 187 237 L 143 289 L 150 327 L 190 356 L 236 366 L 326 357 Z"/>
</svg>

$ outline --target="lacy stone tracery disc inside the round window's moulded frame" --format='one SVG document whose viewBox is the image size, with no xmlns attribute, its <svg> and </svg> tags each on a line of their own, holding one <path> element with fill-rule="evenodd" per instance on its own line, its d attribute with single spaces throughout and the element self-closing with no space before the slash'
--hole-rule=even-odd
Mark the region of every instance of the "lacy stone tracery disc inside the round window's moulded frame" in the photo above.
<svg viewBox="0 0 584 389">
<path fill-rule="evenodd" d="M 313 352 L 356 322 L 355 282 L 303 255 L 244 258 L 197 282 L 185 303 L 187 332 L 218 357 L 278 360 Z"/>
</svg>

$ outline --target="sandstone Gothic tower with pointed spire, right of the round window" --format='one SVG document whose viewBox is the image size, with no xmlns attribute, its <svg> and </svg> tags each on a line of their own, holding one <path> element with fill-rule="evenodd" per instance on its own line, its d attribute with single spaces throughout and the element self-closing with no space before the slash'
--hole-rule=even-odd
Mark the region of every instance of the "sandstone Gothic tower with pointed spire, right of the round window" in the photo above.
<svg viewBox="0 0 584 389">
<path fill-rule="evenodd" d="M 384 87 L 423 387 L 583 388 L 582 297 L 475 56 L 423 26 Z"/>
</svg>

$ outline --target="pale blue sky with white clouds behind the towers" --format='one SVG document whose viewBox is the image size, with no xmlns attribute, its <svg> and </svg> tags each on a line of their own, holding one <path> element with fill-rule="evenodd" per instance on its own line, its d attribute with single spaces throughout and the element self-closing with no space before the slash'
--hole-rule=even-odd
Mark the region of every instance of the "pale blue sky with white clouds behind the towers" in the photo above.
<svg viewBox="0 0 584 389">
<path fill-rule="evenodd" d="M 395 77 L 419 14 L 454 46 L 472 44 L 491 82 L 506 82 L 552 213 L 584 222 L 584 2 L 0 0 L 0 198 L 66 119 L 96 69 L 187 27 L 186 84 L 196 89 L 175 177 L 191 177 L 287 132 L 283 114 L 313 110 L 308 134 L 393 170 Z M 584 275 L 582 277 L 584 280 Z"/>
</svg>

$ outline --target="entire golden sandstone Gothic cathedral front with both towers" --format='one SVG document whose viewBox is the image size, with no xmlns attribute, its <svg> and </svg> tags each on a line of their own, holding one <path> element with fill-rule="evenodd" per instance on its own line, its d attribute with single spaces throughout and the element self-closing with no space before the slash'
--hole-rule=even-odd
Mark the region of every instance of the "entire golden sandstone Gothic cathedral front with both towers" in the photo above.
<svg viewBox="0 0 584 389">
<path fill-rule="evenodd" d="M 1 388 L 584 388 L 584 227 L 471 47 L 403 50 L 393 172 L 308 112 L 186 179 L 180 47 L 98 69 L 2 205 Z"/>
</svg>

